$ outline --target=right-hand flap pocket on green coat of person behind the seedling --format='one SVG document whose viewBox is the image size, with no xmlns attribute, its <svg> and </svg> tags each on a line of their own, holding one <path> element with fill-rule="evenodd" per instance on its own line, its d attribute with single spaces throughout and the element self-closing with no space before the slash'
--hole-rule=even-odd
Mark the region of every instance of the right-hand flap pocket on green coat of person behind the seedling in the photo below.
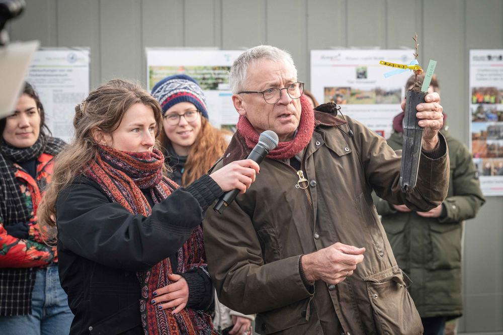
<svg viewBox="0 0 503 335">
<path fill-rule="evenodd" d="M 430 222 L 429 226 L 431 262 L 428 262 L 428 268 L 431 270 L 461 268 L 461 224 Z"/>
</svg>

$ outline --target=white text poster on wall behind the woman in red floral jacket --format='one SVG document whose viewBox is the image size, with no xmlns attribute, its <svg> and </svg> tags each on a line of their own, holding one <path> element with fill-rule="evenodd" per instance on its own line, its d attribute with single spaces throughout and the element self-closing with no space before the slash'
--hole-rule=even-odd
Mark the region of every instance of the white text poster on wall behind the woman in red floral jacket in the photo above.
<svg viewBox="0 0 503 335">
<path fill-rule="evenodd" d="M 75 106 L 89 95 L 89 62 L 89 48 L 42 49 L 28 70 L 52 136 L 65 142 L 73 136 Z"/>
</svg>

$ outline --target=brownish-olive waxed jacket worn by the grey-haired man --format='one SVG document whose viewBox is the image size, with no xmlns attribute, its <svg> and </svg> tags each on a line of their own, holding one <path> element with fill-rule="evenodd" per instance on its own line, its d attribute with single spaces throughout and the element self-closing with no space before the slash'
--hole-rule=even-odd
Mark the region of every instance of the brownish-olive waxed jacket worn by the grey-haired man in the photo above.
<svg viewBox="0 0 503 335">
<path fill-rule="evenodd" d="M 351 118 L 346 123 L 336 113 L 315 111 L 301 164 L 305 190 L 296 187 L 293 167 L 266 158 L 245 194 L 223 214 L 206 213 L 208 270 L 219 300 L 244 314 L 258 313 L 261 334 L 420 334 L 420 316 L 371 193 L 414 209 L 438 206 L 447 195 L 445 139 L 439 136 L 438 158 L 422 154 L 416 192 L 403 194 L 399 153 L 361 123 Z M 215 169 L 249 151 L 236 133 Z M 366 247 L 364 261 L 338 285 L 317 281 L 306 287 L 300 256 L 336 242 Z"/>
</svg>

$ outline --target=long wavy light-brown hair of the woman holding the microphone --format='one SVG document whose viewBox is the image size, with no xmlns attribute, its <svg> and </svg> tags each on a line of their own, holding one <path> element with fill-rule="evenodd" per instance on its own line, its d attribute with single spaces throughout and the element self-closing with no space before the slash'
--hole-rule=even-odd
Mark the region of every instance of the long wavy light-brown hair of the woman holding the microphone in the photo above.
<svg viewBox="0 0 503 335">
<path fill-rule="evenodd" d="M 59 192 L 66 188 L 73 179 L 82 173 L 88 162 L 96 159 L 98 143 L 92 129 L 98 128 L 105 133 L 116 130 L 124 113 L 134 104 L 151 107 L 157 123 L 158 136 L 162 129 L 162 111 L 159 103 L 137 83 L 113 79 L 96 90 L 79 105 L 75 106 L 73 140 L 54 160 L 54 173 L 38 209 L 38 222 L 43 236 L 48 243 L 56 237 L 56 201 Z M 158 148 L 158 143 L 154 147 Z"/>
</svg>

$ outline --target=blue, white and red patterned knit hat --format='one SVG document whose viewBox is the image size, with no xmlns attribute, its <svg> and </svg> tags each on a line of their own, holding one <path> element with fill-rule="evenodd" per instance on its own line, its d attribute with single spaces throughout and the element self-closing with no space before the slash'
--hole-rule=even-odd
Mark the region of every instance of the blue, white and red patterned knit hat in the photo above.
<svg viewBox="0 0 503 335">
<path fill-rule="evenodd" d="M 208 118 L 203 90 L 194 78 L 186 74 L 171 75 L 157 82 L 152 89 L 152 97 L 159 102 L 162 113 L 178 103 L 190 102 Z"/>
</svg>

